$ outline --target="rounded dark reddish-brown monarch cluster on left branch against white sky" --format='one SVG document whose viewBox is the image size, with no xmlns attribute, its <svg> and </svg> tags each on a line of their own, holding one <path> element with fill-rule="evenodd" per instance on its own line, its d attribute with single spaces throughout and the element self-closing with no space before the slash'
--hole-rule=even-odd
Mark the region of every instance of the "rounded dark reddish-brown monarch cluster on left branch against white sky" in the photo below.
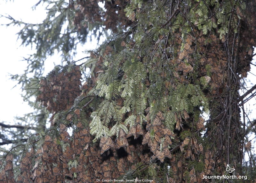
<svg viewBox="0 0 256 183">
<path fill-rule="evenodd" d="M 82 74 L 79 69 L 75 66 L 70 72 L 52 71 L 48 74 L 49 79 L 42 79 L 39 83 L 41 94 L 36 98 L 41 101 L 39 105 L 46 106 L 51 113 L 69 109 L 80 95 Z"/>
</svg>

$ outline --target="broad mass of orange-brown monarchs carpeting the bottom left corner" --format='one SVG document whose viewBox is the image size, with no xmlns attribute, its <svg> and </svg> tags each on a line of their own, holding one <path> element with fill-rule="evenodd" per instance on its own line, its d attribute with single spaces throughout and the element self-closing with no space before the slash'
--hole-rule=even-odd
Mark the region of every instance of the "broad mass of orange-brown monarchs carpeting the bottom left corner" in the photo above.
<svg viewBox="0 0 256 183">
<path fill-rule="evenodd" d="M 79 115 L 78 111 L 74 113 Z M 12 157 L 7 156 L 7 164 L 4 166 L 4 170 L 0 172 L 1 181 L 55 183 L 65 181 L 65 179 L 73 179 L 74 182 L 89 183 L 95 178 L 112 179 L 119 177 L 129 169 L 129 162 L 133 169 L 136 168 L 137 162 L 149 163 L 150 157 L 144 153 L 143 145 L 135 141 L 131 142 L 132 138 L 128 138 L 122 129 L 118 139 L 116 139 L 118 143 L 114 143 L 110 137 L 103 138 L 100 141 L 100 150 L 97 145 L 91 143 L 89 131 L 83 128 L 81 122 L 76 124 L 72 137 L 69 136 L 66 128 L 64 124 L 60 124 L 60 137 L 52 139 L 46 135 L 41 147 L 37 149 L 32 147 L 21 157 L 21 174 L 17 181 L 13 179 Z M 61 142 L 64 146 L 60 146 Z M 108 150 L 110 153 L 103 154 L 106 146 L 112 147 L 113 150 L 111 152 Z M 122 157 L 118 154 L 121 147 L 127 152 Z M 69 163 L 72 161 L 77 161 L 78 165 L 70 165 Z M 76 177 L 74 177 L 74 173 L 76 173 Z"/>
</svg>

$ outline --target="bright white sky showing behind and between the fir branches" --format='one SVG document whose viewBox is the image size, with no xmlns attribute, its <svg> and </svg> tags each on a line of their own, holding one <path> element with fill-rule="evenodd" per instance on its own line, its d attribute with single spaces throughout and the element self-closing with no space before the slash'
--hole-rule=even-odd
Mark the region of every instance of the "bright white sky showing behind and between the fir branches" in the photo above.
<svg viewBox="0 0 256 183">
<path fill-rule="evenodd" d="M 7 1 L 0 0 L 0 14 L 7 16 L 11 15 L 14 19 L 21 19 L 24 22 L 29 23 L 40 23 L 46 17 L 46 11 L 44 6 L 41 4 L 37 6 L 36 11 L 32 11 L 31 7 L 36 4 L 36 0 L 20 1 L 14 0 Z M 0 24 L 10 23 L 10 20 L 6 18 L 0 18 Z M 1 94 L 1 105 L 0 105 L 0 122 L 6 121 L 10 124 L 14 124 L 15 116 L 22 116 L 25 113 L 30 113 L 33 108 L 30 108 L 26 102 L 23 102 L 21 98 L 20 86 L 13 88 L 17 82 L 11 81 L 9 73 L 21 74 L 27 66 L 26 61 L 22 60 L 22 57 L 26 57 L 27 54 L 34 53 L 31 47 L 20 47 L 21 41 L 17 41 L 16 33 L 19 32 L 21 27 L 19 26 L 0 26 L 0 55 L 1 55 L 1 66 L 0 67 L 0 94 Z M 102 42 L 102 39 L 100 43 Z M 74 60 L 83 58 L 85 55 L 82 53 L 85 49 L 96 48 L 96 42 L 88 42 L 84 47 L 77 46 L 77 55 Z M 45 62 L 46 75 L 54 68 L 55 64 L 60 63 L 61 58 L 56 54 L 51 58 L 48 58 Z M 255 61 L 253 61 L 255 63 Z M 251 65 L 251 73 L 256 75 L 256 67 Z M 247 87 L 251 87 L 256 84 L 256 76 L 248 73 L 248 77 L 245 79 Z M 250 89 L 250 88 L 249 88 Z M 247 111 L 251 121 L 255 118 L 256 113 L 256 100 L 251 99 L 250 102 L 246 103 L 245 110 Z M 247 121 L 247 119 L 246 119 Z M 252 140 L 252 147 L 255 144 L 255 135 L 250 136 Z M 255 151 L 254 151 L 255 152 Z"/>
</svg>

